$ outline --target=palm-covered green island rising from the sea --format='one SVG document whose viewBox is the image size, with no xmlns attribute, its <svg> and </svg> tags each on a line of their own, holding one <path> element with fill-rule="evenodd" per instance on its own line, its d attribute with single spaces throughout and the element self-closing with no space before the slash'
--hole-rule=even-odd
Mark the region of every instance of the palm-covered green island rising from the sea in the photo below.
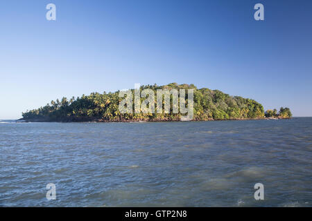
<svg viewBox="0 0 312 221">
<path fill-rule="evenodd" d="M 287 107 L 264 111 L 262 104 L 254 99 L 197 88 L 193 84 L 171 83 L 71 99 L 62 97 L 26 111 L 22 117 L 29 122 L 180 122 L 278 119 L 292 114 Z"/>
</svg>

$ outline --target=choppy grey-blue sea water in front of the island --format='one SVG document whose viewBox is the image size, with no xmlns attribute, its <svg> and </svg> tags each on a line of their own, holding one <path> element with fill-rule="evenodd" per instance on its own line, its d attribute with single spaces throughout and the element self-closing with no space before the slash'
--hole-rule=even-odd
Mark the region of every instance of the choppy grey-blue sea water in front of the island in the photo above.
<svg viewBox="0 0 312 221">
<path fill-rule="evenodd" d="M 312 117 L 2 122 L 0 151 L 0 206 L 312 206 Z"/>
</svg>

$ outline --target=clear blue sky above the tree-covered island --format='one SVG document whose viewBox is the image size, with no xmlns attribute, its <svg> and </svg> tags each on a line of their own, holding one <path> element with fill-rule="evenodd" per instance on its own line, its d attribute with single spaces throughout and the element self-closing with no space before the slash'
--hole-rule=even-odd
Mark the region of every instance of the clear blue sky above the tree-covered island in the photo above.
<svg viewBox="0 0 312 221">
<path fill-rule="evenodd" d="M 46 20 L 48 3 L 56 21 Z M 256 3 L 264 21 L 254 20 Z M 172 82 L 312 116 L 309 0 L 10 0 L 0 28 L 0 119 L 52 99 Z"/>
</svg>

